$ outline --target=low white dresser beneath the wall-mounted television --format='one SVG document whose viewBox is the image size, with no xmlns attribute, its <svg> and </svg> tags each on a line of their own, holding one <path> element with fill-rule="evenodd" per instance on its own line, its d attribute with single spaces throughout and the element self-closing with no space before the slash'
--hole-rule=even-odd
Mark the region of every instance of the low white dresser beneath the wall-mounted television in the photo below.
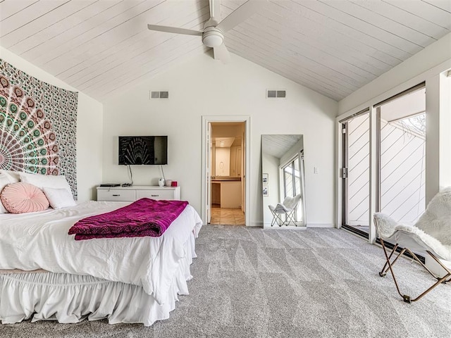
<svg viewBox="0 0 451 338">
<path fill-rule="evenodd" d="M 180 187 L 159 187 L 154 185 L 97 187 L 97 201 L 136 201 L 143 197 L 180 200 Z"/>
</svg>

